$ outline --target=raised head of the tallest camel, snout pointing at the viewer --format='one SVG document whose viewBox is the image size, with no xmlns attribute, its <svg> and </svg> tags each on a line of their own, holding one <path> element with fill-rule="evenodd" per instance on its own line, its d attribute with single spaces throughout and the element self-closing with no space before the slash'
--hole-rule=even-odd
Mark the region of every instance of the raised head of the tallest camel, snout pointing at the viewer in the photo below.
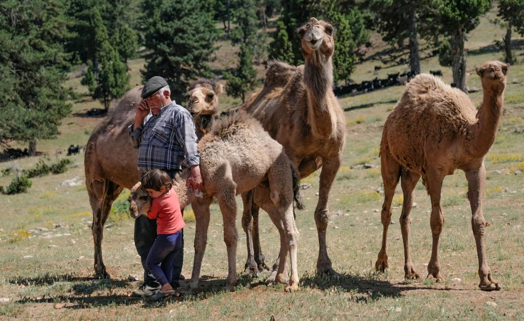
<svg viewBox="0 0 524 321">
<path fill-rule="evenodd" d="M 329 59 L 335 50 L 333 40 L 333 26 L 316 18 L 309 19 L 308 23 L 297 29 L 300 37 L 300 45 L 305 58 L 311 56 L 315 51 L 319 51 Z"/>
</svg>

